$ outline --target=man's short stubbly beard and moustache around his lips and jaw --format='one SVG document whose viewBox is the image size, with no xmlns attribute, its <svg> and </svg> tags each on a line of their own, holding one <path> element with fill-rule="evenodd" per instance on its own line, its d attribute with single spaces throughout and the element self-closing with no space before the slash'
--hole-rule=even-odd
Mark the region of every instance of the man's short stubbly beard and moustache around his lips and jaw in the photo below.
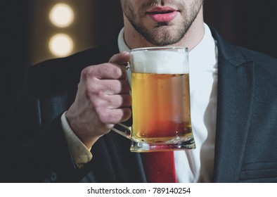
<svg viewBox="0 0 277 197">
<path fill-rule="evenodd" d="M 141 34 L 141 36 L 146 39 L 150 44 L 155 46 L 167 46 L 180 42 L 180 40 L 188 32 L 189 28 L 193 24 L 193 21 L 197 17 L 200 8 L 202 6 L 203 0 L 195 0 L 195 2 L 188 8 L 183 1 L 163 1 L 163 0 L 153 0 L 148 1 L 145 4 L 141 4 L 138 11 L 134 11 L 131 8 L 128 1 L 122 1 L 122 10 L 124 15 L 133 25 L 134 29 Z M 141 22 L 146 10 L 151 6 L 164 6 L 164 5 L 174 5 L 181 11 L 181 22 L 179 22 L 178 27 L 172 27 L 169 23 L 155 23 L 155 27 L 149 29 Z"/>
</svg>

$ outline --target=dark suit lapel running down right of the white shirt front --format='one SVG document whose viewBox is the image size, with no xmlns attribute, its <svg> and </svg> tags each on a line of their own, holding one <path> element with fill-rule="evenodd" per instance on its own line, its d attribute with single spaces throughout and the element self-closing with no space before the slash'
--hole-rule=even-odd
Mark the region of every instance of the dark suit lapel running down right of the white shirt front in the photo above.
<svg viewBox="0 0 277 197">
<path fill-rule="evenodd" d="M 219 49 L 217 134 L 213 182 L 237 182 L 254 91 L 254 66 L 214 32 Z"/>
</svg>

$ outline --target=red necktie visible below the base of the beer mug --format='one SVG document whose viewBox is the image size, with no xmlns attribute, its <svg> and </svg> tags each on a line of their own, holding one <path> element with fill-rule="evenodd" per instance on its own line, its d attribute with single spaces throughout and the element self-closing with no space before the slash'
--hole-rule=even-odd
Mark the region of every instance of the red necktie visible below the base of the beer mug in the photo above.
<svg viewBox="0 0 277 197">
<path fill-rule="evenodd" d="M 141 153 L 150 183 L 176 183 L 174 151 Z"/>
</svg>

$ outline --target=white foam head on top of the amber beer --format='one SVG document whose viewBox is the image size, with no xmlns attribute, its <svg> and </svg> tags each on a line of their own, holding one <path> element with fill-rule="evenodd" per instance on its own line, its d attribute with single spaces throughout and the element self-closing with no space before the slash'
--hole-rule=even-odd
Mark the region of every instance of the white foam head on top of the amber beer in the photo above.
<svg viewBox="0 0 277 197">
<path fill-rule="evenodd" d="M 186 74 L 188 53 L 180 51 L 132 51 L 131 70 L 140 73 Z"/>
</svg>

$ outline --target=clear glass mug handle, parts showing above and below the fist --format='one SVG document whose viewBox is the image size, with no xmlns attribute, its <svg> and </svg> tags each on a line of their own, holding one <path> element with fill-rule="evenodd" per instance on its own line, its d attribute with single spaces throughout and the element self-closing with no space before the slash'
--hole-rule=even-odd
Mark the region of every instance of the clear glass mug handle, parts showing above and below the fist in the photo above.
<svg viewBox="0 0 277 197">
<path fill-rule="evenodd" d="M 130 63 L 117 63 L 118 65 L 122 65 L 128 72 L 131 72 L 131 66 Z M 129 77 L 127 73 L 127 80 L 131 85 L 131 77 Z M 122 123 L 117 123 L 115 126 L 112 128 L 113 132 L 116 132 L 117 134 L 120 134 L 124 137 L 127 137 L 127 139 L 131 139 L 131 127 L 128 127 L 127 125 L 124 125 Z"/>
</svg>

